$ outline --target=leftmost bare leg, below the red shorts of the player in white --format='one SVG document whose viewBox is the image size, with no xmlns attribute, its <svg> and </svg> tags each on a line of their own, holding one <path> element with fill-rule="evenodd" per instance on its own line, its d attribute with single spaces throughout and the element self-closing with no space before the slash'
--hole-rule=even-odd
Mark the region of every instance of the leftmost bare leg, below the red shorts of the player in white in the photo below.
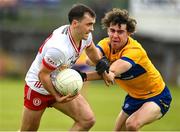
<svg viewBox="0 0 180 132">
<path fill-rule="evenodd" d="M 44 110 L 33 111 L 24 107 L 20 131 L 37 131 Z"/>
</svg>

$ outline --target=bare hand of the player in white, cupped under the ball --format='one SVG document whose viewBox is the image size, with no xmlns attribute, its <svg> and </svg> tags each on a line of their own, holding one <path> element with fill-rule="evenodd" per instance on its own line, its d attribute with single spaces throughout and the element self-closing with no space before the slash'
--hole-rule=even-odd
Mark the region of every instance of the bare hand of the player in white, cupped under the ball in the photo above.
<svg viewBox="0 0 180 132">
<path fill-rule="evenodd" d="M 69 101 L 75 99 L 78 95 L 79 95 L 79 93 L 76 94 L 76 95 L 71 95 L 71 94 L 68 94 L 68 95 L 65 95 L 65 96 L 58 95 L 58 96 L 55 97 L 55 99 L 59 103 L 66 103 L 66 102 L 69 102 Z"/>
</svg>

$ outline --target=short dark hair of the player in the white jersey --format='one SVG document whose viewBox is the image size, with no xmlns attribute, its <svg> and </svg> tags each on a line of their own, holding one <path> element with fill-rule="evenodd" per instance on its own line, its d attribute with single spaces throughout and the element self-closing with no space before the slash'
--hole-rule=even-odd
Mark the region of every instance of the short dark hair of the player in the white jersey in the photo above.
<svg viewBox="0 0 180 132">
<path fill-rule="evenodd" d="M 84 4 L 75 4 L 72 6 L 71 10 L 68 13 L 68 19 L 70 24 L 74 19 L 81 20 L 84 16 L 84 13 L 89 13 L 91 17 L 95 18 L 95 12 L 88 6 Z"/>
</svg>

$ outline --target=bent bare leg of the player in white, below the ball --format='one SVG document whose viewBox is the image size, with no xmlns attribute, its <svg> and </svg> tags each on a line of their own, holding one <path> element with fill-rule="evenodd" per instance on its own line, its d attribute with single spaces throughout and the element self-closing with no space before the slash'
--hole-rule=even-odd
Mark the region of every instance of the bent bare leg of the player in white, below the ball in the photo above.
<svg viewBox="0 0 180 132">
<path fill-rule="evenodd" d="M 71 131 L 87 131 L 95 123 L 95 117 L 89 104 L 80 94 L 70 102 L 55 103 L 52 106 L 75 121 Z"/>
</svg>

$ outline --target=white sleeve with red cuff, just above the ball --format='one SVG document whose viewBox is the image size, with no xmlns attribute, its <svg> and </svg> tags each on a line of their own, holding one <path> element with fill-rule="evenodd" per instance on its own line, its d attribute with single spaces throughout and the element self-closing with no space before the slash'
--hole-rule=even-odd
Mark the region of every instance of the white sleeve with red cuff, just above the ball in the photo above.
<svg viewBox="0 0 180 132">
<path fill-rule="evenodd" d="M 50 70 L 55 70 L 58 68 L 65 60 L 65 55 L 63 52 L 56 48 L 50 48 L 46 52 L 42 63 L 45 67 L 47 67 Z"/>
</svg>

